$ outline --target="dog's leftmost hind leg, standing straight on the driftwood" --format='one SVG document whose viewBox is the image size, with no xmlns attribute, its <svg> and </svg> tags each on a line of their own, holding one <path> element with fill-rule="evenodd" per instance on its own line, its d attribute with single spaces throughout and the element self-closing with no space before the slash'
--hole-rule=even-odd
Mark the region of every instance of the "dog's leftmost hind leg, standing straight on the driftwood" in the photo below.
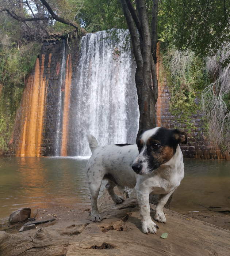
<svg viewBox="0 0 230 256">
<path fill-rule="evenodd" d="M 89 182 L 89 189 L 91 192 L 91 217 L 93 222 L 101 222 L 102 218 L 97 208 L 97 197 L 99 195 L 102 179 L 95 179 L 93 182 Z"/>
</svg>

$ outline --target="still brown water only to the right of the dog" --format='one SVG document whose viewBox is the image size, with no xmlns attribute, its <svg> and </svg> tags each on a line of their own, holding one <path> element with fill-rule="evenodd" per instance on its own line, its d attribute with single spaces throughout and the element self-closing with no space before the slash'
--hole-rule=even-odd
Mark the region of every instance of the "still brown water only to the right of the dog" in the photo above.
<svg viewBox="0 0 230 256">
<path fill-rule="evenodd" d="M 202 206 L 230 210 L 230 161 L 184 159 L 184 172 L 184 179 L 173 194 L 171 210 L 206 210 Z"/>
</svg>

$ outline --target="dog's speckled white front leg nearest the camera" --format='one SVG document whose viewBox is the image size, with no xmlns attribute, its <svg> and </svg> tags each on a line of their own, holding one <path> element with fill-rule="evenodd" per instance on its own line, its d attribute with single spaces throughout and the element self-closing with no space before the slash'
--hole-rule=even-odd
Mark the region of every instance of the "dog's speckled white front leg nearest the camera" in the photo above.
<svg viewBox="0 0 230 256">
<path fill-rule="evenodd" d="M 152 233 L 156 234 L 157 229 L 159 228 L 156 223 L 154 223 L 150 217 L 150 206 L 149 206 L 149 191 L 138 191 L 137 193 L 137 201 L 140 207 L 140 215 L 141 215 L 141 224 L 143 233 Z"/>
</svg>

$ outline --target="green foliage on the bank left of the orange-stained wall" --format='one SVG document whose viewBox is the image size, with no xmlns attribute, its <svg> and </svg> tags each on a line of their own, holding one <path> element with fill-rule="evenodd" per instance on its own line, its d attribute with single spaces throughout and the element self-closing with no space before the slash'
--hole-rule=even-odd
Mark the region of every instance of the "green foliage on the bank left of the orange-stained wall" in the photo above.
<svg viewBox="0 0 230 256">
<path fill-rule="evenodd" d="M 40 45 L 32 42 L 21 48 L 15 42 L 0 46 L 0 150 L 7 151 L 12 140 L 25 78 L 34 68 L 39 52 Z"/>
</svg>

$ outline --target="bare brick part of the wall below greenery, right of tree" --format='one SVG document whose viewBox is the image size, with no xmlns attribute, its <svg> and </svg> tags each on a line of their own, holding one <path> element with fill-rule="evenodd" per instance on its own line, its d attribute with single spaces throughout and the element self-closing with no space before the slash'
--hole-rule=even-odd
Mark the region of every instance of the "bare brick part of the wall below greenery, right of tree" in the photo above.
<svg viewBox="0 0 230 256">
<path fill-rule="evenodd" d="M 171 93 L 167 86 L 166 78 L 158 86 L 158 126 L 166 128 L 179 128 L 187 132 L 188 143 L 186 145 L 181 144 L 180 148 L 184 155 L 184 158 L 196 158 L 196 159 L 227 159 L 230 160 L 229 151 L 221 151 L 218 146 L 215 146 L 206 136 L 204 132 L 204 125 L 202 122 L 202 113 L 197 110 L 196 114 L 192 114 L 185 123 L 181 123 L 180 116 L 173 116 L 169 112 L 169 105 L 171 100 Z M 198 95 L 199 98 L 199 95 Z M 187 128 L 186 123 L 191 122 L 195 128 Z"/>
</svg>

